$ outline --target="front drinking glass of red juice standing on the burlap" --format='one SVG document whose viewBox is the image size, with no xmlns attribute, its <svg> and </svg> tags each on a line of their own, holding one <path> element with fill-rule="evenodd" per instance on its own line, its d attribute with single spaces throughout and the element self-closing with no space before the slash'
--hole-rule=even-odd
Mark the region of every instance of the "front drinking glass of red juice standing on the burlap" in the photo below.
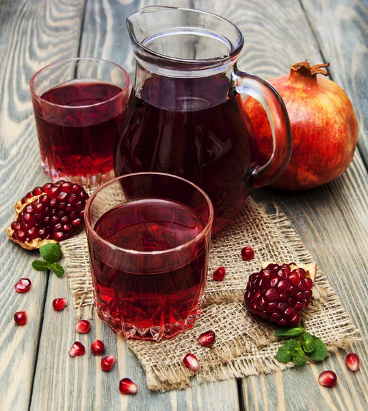
<svg viewBox="0 0 368 411">
<path fill-rule="evenodd" d="M 207 283 L 213 207 L 164 173 L 117 177 L 86 205 L 98 316 L 125 338 L 160 340 L 192 327 Z"/>
</svg>

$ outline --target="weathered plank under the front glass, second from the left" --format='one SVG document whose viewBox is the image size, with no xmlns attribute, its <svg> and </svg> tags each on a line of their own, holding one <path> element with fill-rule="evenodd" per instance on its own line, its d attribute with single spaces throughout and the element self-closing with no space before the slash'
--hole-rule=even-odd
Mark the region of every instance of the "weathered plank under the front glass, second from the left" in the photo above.
<svg viewBox="0 0 368 411">
<path fill-rule="evenodd" d="M 146 5 L 155 4 L 165 2 L 89 0 L 80 55 L 113 60 L 131 73 L 133 53 L 125 18 Z M 190 1 L 176 1 L 175 5 L 189 7 Z M 68 296 L 70 306 L 64 312 L 53 311 L 53 299 L 64 296 Z M 92 329 L 87 335 L 76 336 L 76 312 L 71 301 L 66 278 L 51 276 L 31 410 L 239 410 L 235 379 L 201 386 L 193 381 L 192 388 L 180 392 L 153 393 L 148 390 L 144 371 L 133 353 L 127 349 L 121 336 L 116 337 L 100 319 L 92 321 Z M 106 352 L 117 358 L 117 364 L 109 373 L 101 370 L 101 357 L 90 355 L 90 343 L 96 338 L 103 340 Z M 86 346 L 86 355 L 81 358 L 68 357 L 68 349 L 75 340 Z M 120 395 L 118 383 L 123 377 L 135 381 L 140 390 L 138 395 Z"/>
</svg>

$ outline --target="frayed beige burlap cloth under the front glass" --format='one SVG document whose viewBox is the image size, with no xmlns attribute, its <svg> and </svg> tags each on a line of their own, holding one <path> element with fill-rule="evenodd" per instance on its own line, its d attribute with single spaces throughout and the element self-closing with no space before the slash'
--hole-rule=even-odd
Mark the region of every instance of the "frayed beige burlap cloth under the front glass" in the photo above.
<svg viewBox="0 0 368 411">
<path fill-rule="evenodd" d="M 255 251 L 254 259 L 249 262 L 241 259 L 240 251 L 246 245 Z M 62 251 L 74 306 L 80 313 L 83 306 L 93 304 L 86 233 L 64 241 Z M 274 337 L 274 327 L 251 316 L 243 303 L 248 276 L 259 271 L 266 260 L 304 264 L 313 261 L 280 210 L 272 205 L 258 206 L 248 199 L 244 212 L 233 225 L 212 238 L 207 292 L 194 328 L 174 340 L 160 343 L 127 340 L 146 371 L 150 389 L 186 388 L 193 375 L 199 382 L 219 381 L 293 366 L 292 362 L 284 364 L 276 360 L 282 342 Z M 226 267 L 222 282 L 215 282 L 211 275 L 218 266 Z M 303 318 L 308 332 L 324 340 L 329 351 L 357 338 L 358 330 L 321 271 L 317 273 L 311 306 Z M 215 344 L 202 347 L 198 335 L 209 329 L 215 332 Z M 200 360 L 198 373 L 183 364 L 188 352 Z"/>
</svg>

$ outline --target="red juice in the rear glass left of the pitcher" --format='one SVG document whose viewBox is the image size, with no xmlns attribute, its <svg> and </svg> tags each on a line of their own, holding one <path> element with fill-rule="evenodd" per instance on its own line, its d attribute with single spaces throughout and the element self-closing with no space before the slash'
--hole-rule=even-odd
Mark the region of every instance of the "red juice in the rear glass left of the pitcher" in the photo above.
<svg viewBox="0 0 368 411">
<path fill-rule="evenodd" d="M 114 176 L 113 150 L 126 97 L 113 84 L 74 80 L 35 102 L 44 171 L 55 179 L 94 186 Z M 52 104 L 49 104 L 49 103 Z"/>
</svg>

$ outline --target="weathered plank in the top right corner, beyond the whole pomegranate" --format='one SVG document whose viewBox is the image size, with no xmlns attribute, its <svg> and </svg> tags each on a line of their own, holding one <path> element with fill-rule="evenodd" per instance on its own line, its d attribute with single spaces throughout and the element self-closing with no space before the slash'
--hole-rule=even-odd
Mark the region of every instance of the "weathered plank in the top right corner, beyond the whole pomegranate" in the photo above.
<svg viewBox="0 0 368 411">
<path fill-rule="evenodd" d="M 352 100 L 359 123 L 358 147 L 368 169 L 368 3 L 300 0 L 334 82 Z"/>
</svg>

